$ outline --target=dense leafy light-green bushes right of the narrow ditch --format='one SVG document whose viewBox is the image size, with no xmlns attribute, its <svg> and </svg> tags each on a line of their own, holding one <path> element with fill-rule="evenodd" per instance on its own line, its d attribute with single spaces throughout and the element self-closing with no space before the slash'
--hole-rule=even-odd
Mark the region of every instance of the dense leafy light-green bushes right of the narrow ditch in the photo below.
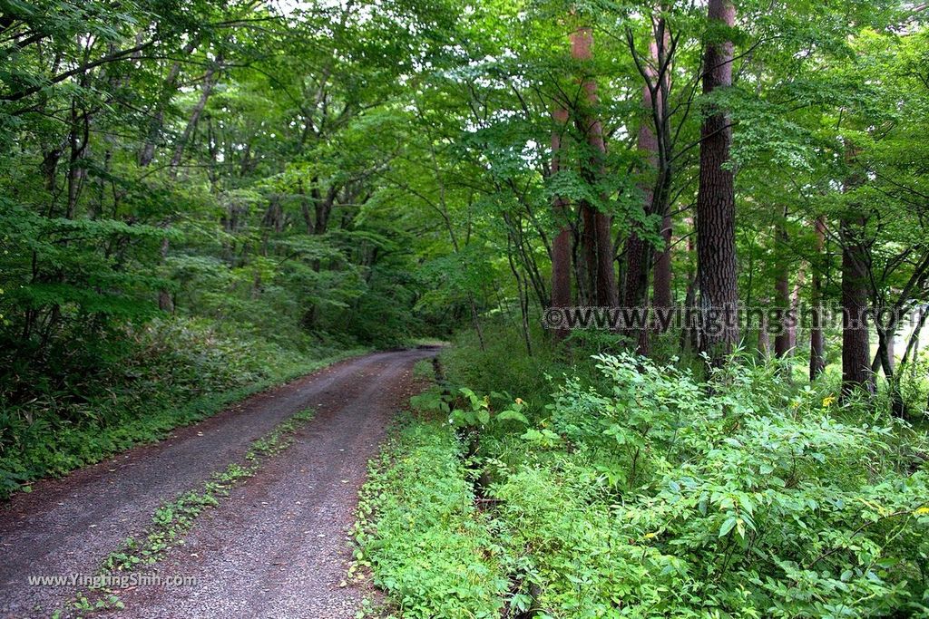
<svg viewBox="0 0 929 619">
<path fill-rule="evenodd" d="M 597 361 L 611 388 L 569 380 L 545 422 L 560 442 L 527 432 L 491 486 L 541 616 L 927 616 L 922 437 L 765 368 L 732 364 L 706 393 Z"/>
</svg>

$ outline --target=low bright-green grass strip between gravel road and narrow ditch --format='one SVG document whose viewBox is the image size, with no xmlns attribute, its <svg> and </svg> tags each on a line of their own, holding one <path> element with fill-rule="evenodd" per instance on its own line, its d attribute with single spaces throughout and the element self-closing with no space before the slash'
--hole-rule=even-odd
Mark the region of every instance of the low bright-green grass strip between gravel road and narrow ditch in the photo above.
<svg viewBox="0 0 929 619">
<path fill-rule="evenodd" d="M 411 417 L 371 462 L 352 571 L 370 569 L 390 616 L 498 617 L 504 608 L 501 547 L 475 508 L 463 452 L 448 424 Z"/>
</svg>

